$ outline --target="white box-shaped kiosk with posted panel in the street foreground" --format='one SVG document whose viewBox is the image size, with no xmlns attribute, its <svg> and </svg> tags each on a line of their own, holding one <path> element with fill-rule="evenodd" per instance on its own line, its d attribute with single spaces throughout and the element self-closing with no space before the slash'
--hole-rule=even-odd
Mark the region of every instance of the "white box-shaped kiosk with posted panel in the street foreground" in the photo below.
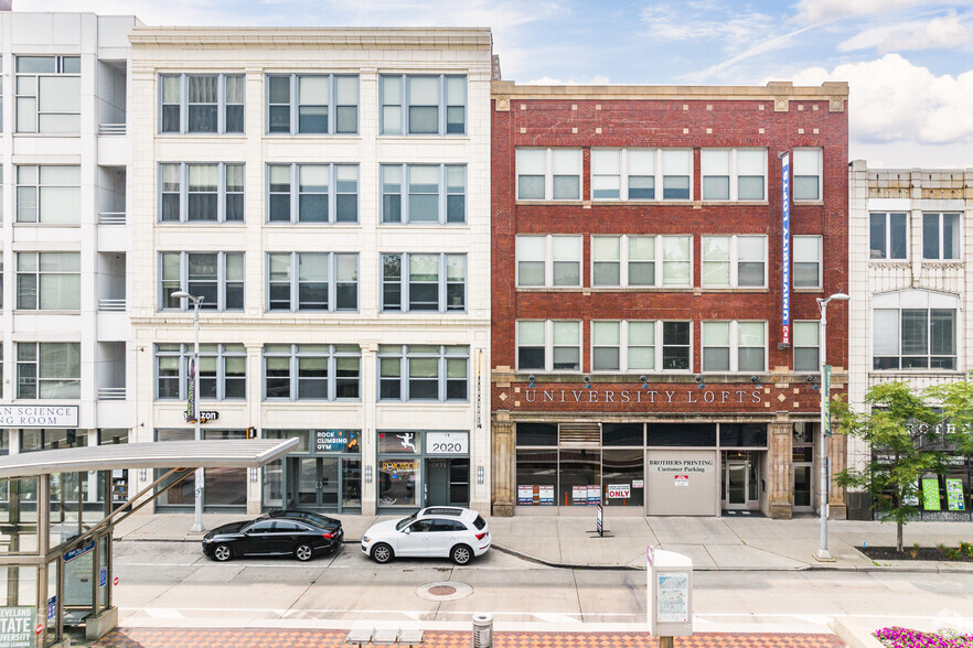
<svg viewBox="0 0 973 648">
<path fill-rule="evenodd" d="M 693 634 L 693 561 L 673 551 L 646 552 L 649 564 L 649 631 L 653 637 Z M 670 644 L 671 645 L 671 644 Z"/>
</svg>

